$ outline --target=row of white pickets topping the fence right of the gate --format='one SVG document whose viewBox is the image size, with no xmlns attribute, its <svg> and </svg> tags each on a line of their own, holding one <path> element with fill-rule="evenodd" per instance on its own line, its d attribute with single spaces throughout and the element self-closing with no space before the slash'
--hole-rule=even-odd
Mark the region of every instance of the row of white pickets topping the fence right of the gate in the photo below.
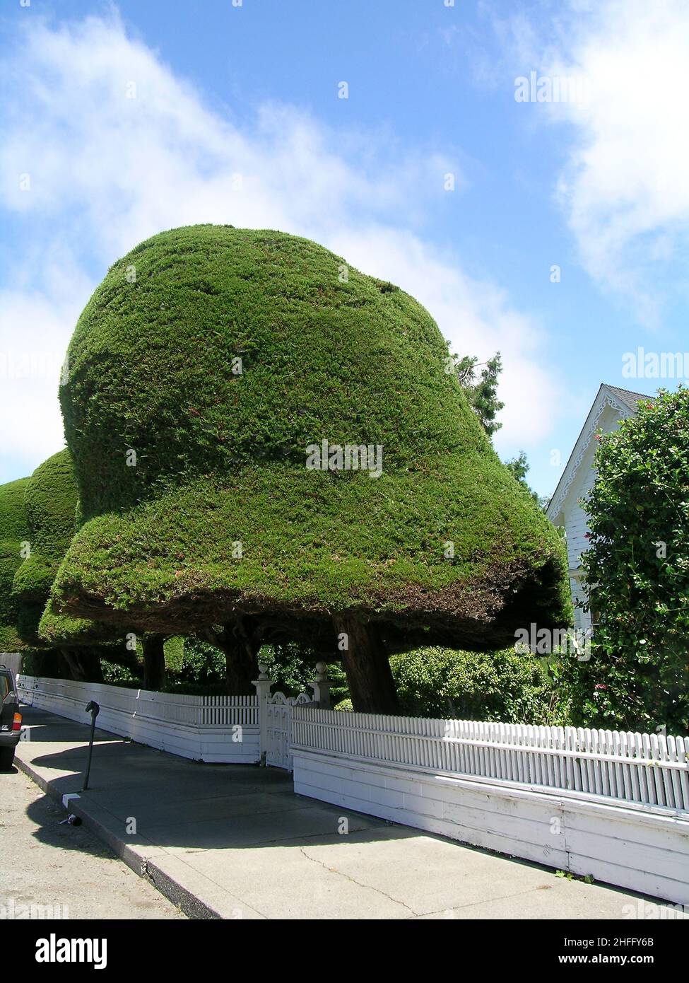
<svg viewBox="0 0 689 983">
<path fill-rule="evenodd" d="M 433 774 L 518 781 L 689 810 L 689 737 L 299 707 L 292 742 Z"/>
</svg>

